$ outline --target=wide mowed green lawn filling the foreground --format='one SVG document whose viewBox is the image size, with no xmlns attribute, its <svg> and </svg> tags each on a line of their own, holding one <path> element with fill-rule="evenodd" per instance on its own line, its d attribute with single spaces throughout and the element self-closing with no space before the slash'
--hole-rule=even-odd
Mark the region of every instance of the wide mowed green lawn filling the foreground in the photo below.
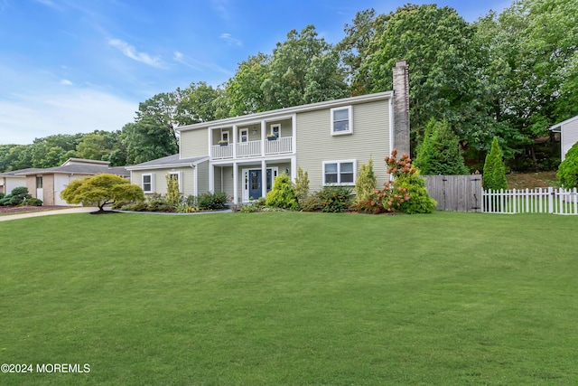
<svg viewBox="0 0 578 386">
<path fill-rule="evenodd" d="M 0 222 L 1 384 L 578 384 L 578 217 Z"/>
</svg>

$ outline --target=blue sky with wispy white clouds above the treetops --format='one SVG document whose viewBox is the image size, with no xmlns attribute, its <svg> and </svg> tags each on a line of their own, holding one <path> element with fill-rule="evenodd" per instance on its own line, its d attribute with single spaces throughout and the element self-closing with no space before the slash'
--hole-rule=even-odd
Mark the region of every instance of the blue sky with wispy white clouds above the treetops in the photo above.
<svg viewBox="0 0 578 386">
<path fill-rule="evenodd" d="M 0 144 L 120 130 L 138 103 L 191 82 L 218 86 L 238 63 L 314 24 L 339 42 L 363 9 L 404 0 L 0 0 Z M 414 1 L 414 4 L 432 3 Z M 439 1 L 468 22 L 511 1 Z"/>
</svg>

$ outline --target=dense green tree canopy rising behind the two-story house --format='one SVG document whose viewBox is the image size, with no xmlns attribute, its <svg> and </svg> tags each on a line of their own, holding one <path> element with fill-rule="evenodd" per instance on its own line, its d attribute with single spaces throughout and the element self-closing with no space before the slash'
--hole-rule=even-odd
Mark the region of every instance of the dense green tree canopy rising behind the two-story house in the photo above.
<svg viewBox="0 0 578 386">
<path fill-rule="evenodd" d="M 578 115 L 576 14 L 574 0 L 517 0 L 474 23 L 433 4 L 408 4 L 389 14 L 360 10 L 340 42 L 327 42 L 314 25 L 291 30 L 271 52 L 240 62 L 224 84 L 193 81 L 158 93 L 110 135 L 6 145 L 0 172 L 56 166 L 70 156 L 127 165 L 172 155 L 175 127 L 390 90 L 398 60 L 409 66 L 414 152 L 433 118 L 448 122 L 472 167 L 480 167 L 493 137 L 501 138 L 510 167 L 553 167 L 555 155 L 536 139 Z"/>
</svg>

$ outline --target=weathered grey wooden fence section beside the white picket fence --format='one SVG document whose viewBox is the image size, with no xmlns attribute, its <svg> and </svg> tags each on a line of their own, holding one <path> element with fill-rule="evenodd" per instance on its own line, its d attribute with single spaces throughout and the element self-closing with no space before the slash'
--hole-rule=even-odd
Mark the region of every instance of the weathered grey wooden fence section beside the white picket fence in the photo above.
<svg viewBox="0 0 578 386">
<path fill-rule="evenodd" d="M 437 201 L 435 209 L 480 212 L 481 175 L 423 175 L 427 192 Z"/>
</svg>

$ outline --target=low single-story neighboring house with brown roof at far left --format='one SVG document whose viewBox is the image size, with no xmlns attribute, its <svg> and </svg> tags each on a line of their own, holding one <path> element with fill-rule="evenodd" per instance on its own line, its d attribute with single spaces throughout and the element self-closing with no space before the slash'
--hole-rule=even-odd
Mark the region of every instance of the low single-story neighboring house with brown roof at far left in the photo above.
<svg viewBox="0 0 578 386">
<path fill-rule="evenodd" d="M 95 174 L 117 174 L 128 178 L 124 166 L 109 167 L 106 161 L 69 158 L 64 164 L 46 169 L 30 168 L 0 174 L 4 192 L 10 193 L 16 186 L 26 186 L 28 192 L 42 200 L 44 205 L 67 205 L 61 192 L 70 181 Z"/>
</svg>

